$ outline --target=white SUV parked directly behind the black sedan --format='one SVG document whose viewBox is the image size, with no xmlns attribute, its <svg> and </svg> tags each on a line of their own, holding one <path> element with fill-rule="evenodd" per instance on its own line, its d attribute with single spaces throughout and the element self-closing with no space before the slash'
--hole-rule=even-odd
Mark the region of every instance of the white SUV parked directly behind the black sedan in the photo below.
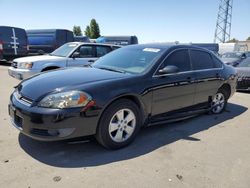
<svg viewBox="0 0 250 188">
<path fill-rule="evenodd" d="M 74 66 L 86 66 L 119 46 L 70 42 L 47 55 L 14 59 L 9 75 L 23 80 L 37 73 Z"/>
</svg>

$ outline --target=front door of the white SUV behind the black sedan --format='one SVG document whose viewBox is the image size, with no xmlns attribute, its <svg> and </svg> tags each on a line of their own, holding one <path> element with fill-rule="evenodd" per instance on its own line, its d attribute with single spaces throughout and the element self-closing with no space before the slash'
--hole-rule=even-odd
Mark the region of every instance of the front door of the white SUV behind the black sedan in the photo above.
<svg viewBox="0 0 250 188">
<path fill-rule="evenodd" d="M 77 54 L 76 57 L 72 57 L 74 53 Z M 95 46 L 92 45 L 82 45 L 73 54 L 67 60 L 68 67 L 85 66 L 97 60 Z"/>
</svg>

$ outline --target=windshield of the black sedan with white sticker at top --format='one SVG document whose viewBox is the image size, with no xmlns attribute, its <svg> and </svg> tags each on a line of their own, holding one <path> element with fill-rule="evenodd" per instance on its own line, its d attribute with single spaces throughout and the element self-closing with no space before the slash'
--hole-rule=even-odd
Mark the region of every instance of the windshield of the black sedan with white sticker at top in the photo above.
<svg viewBox="0 0 250 188">
<path fill-rule="evenodd" d="M 93 67 L 139 74 L 146 71 L 163 51 L 159 48 L 120 48 L 97 60 Z"/>
</svg>

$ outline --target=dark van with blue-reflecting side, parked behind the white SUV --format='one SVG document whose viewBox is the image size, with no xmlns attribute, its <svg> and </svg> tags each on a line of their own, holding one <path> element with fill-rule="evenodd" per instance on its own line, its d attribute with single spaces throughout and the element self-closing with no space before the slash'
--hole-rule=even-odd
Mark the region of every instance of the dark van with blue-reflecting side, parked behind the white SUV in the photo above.
<svg viewBox="0 0 250 188">
<path fill-rule="evenodd" d="M 66 29 L 27 30 L 30 54 L 51 53 L 65 43 L 73 42 L 72 31 Z"/>
</svg>

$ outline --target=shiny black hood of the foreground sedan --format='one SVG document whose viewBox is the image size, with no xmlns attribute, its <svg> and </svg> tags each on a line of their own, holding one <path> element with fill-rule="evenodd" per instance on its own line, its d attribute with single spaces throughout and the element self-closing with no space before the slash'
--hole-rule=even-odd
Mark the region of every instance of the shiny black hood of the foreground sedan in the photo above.
<svg viewBox="0 0 250 188">
<path fill-rule="evenodd" d="M 119 79 L 128 75 L 97 68 L 67 68 L 42 73 L 24 80 L 18 85 L 18 90 L 22 96 L 31 100 L 39 100 L 48 93 L 67 91 L 77 86 L 81 90 L 85 84 Z"/>
</svg>

